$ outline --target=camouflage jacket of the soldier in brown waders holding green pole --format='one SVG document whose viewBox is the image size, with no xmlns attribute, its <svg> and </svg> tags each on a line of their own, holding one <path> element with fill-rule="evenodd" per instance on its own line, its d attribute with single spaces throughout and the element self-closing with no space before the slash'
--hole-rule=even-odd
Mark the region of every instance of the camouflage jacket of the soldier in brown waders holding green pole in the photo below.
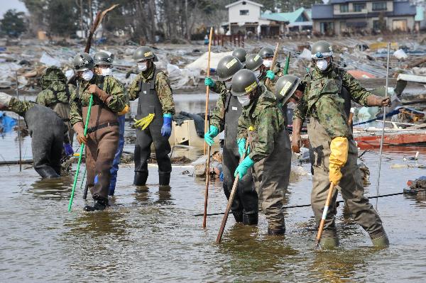
<svg viewBox="0 0 426 283">
<path fill-rule="evenodd" d="M 103 87 L 102 87 L 103 81 Z M 126 91 L 123 85 L 118 82 L 114 77 L 107 76 L 102 77 L 97 74 L 93 75 L 90 82 L 85 82 L 82 79 L 79 80 L 79 87 L 74 89 L 70 99 L 70 122 L 74 126 L 75 123 L 83 122 L 82 118 L 82 107 L 89 106 L 90 95 L 87 92 L 87 88 L 90 84 L 96 84 L 99 88 L 111 95 L 111 100 L 107 104 L 107 107 L 113 112 L 120 112 L 126 106 Z M 93 105 L 104 105 L 104 102 L 99 99 L 97 95 L 93 95 Z"/>
</svg>

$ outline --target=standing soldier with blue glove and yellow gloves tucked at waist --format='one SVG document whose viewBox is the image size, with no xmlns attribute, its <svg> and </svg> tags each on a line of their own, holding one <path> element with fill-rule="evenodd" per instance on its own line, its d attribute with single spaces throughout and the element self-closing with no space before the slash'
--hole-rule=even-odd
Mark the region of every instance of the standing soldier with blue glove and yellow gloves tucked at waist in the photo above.
<svg viewBox="0 0 426 283">
<path fill-rule="evenodd" d="M 160 187 L 168 187 L 172 162 L 168 138 L 172 132 L 172 116 L 175 102 L 167 75 L 154 64 L 151 48 L 141 46 L 136 49 L 133 59 L 141 71 L 129 87 L 130 100 L 139 99 L 136 118 L 143 127 L 136 129 L 135 177 L 133 184 L 145 186 L 148 179 L 148 159 L 151 156 L 151 144 L 154 143 L 155 157 L 158 163 Z M 137 123 L 141 125 L 140 123 Z"/>
</svg>

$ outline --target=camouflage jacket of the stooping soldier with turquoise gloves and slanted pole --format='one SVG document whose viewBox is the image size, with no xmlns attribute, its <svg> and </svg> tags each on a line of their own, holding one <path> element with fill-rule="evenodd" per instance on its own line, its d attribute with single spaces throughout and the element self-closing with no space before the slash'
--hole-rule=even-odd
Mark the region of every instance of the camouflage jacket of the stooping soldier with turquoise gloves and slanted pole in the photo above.
<svg viewBox="0 0 426 283">
<path fill-rule="evenodd" d="M 249 157 L 254 162 L 271 155 L 275 147 L 275 137 L 285 127 L 283 112 L 278 109 L 275 96 L 263 84 L 261 92 L 258 99 L 244 106 L 238 121 L 238 138 L 247 138 L 249 128 L 253 127 L 250 133 L 253 140 Z"/>
</svg>

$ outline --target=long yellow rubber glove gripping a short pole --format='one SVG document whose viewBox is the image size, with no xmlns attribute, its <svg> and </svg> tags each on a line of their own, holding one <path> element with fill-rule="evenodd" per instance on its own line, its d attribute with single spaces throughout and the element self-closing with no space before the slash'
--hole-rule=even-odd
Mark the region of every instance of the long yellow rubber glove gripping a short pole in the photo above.
<svg viewBox="0 0 426 283">
<path fill-rule="evenodd" d="M 342 172 L 340 170 L 348 160 L 348 139 L 343 137 L 334 138 L 332 143 L 330 143 L 330 150 L 332 152 L 329 157 L 329 180 L 334 186 L 337 186 L 340 179 L 342 179 Z"/>
</svg>

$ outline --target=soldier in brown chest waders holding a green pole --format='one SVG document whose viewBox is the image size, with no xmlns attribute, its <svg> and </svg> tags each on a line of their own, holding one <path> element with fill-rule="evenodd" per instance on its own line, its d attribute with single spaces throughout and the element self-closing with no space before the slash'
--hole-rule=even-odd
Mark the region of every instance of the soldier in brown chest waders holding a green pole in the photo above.
<svg viewBox="0 0 426 283">
<path fill-rule="evenodd" d="M 94 199 L 94 205 L 84 206 L 84 210 L 104 210 L 108 204 L 110 170 L 119 143 L 117 113 L 126 107 L 125 91 L 114 77 L 94 74 L 94 61 L 87 53 L 77 54 L 73 63 L 78 85 L 71 94 L 70 121 L 79 143 L 87 145 L 86 185 Z M 84 125 L 92 95 L 93 104 L 87 135 L 84 136 Z"/>
</svg>

